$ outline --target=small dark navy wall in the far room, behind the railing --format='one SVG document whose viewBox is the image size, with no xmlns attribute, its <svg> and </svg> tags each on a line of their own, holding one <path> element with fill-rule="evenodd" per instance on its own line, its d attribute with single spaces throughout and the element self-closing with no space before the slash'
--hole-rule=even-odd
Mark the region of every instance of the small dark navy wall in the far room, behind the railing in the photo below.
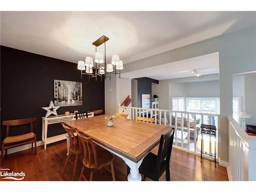
<svg viewBox="0 0 256 192">
<path fill-rule="evenodd" d="M 138 108 L 141 108 L 141 94 L 150 94 L 150 106 L 152 106 L 152 83 L 158 84 L 156 79 L 141 77 L 136 78 L 138 88 Z"/>
</svg>

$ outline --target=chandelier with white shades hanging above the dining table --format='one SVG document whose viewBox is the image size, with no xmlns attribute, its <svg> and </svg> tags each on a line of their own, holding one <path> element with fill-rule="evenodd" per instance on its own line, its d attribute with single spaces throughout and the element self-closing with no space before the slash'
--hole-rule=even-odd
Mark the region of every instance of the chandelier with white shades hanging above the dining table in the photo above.
<svg viewBox="0 0 256 192">
<path fill-rule="evenodd" d="M 123 69 L 123 61 L 119 59 L 119 55 L 113 54 L 111 63 L 106 63 L 106 41 L 108 40 L 109 38 L 103 35 L 93 42 L 96 50 L 94 57 L 95 64 L 93 58 L 90 56 L 87 56 L 85 61 L 78 61 L 77 69 L 81 71 L 81 78 L 82 75 L 88 75 L 90 81 L 90 78 L 95 77 L 97 80 L 99 76 L 102 81 L 102 76 L 104 75 L 105 79 L 108 77 L 111 80 L 111 74 L 119 75 L 120 78 L 121 70 Z M 97 51 L 97 47 L 102 44 L 104 44 L 104 54 Z"/>
</svg>

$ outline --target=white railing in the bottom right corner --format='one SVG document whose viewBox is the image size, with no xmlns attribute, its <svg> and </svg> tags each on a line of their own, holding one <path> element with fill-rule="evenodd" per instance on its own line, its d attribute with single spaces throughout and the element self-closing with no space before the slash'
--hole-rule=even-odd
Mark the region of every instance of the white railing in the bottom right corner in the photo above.
<svg viewBox="0 0 256 192">
<path fill-rule="evenodd" d="M 256 137 L 248 136 L 242 127 L 228 117 L 230 181 L 256 181 Z"/>
</svg>

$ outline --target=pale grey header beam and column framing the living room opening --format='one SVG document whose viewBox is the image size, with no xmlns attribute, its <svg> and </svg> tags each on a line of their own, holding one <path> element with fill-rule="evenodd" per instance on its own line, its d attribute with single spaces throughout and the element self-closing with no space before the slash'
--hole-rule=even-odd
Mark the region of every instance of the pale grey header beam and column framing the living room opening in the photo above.
<svg viewBox="0 0 256 192">
<path fill-rule="evenodd" d="M 256 71 L 256 26 L 127 63 L 123 72 L 158 66 L 215 52 L 219 52 L 220 61 L 221 146 L 219 157 L 222 161 L 228 161 L 227 116 L 232 115 L 232 74 Z M 161 101 L 160 99 L 166 98 L 159 98 L 159 102 Z"/>
</svg>

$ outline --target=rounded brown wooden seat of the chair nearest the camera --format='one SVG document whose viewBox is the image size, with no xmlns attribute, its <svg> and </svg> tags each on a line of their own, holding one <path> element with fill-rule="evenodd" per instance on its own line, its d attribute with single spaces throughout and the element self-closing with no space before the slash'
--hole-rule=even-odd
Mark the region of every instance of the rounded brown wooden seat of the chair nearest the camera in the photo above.
<svg viewBox="0 0 256 192">
<path fill-rule="evenodd" d="M 98 162 L 97 166 L 95 166 L 95 164 L 94 164 L 93 155 L 91 156 L 90 163 L 86 163 L 86 161 L 84 159 L 82 160 L 84 166 L 86 166 L 88 168 L 93 168 L 93 169 L 94 168 L 100 169 L 100 168 L 104 167 L 105 165 L 111 164 L 113 161 L 114 161 L 114 155 L 104 149 L 97 150 L 97 162 Z"/>
</svg>

